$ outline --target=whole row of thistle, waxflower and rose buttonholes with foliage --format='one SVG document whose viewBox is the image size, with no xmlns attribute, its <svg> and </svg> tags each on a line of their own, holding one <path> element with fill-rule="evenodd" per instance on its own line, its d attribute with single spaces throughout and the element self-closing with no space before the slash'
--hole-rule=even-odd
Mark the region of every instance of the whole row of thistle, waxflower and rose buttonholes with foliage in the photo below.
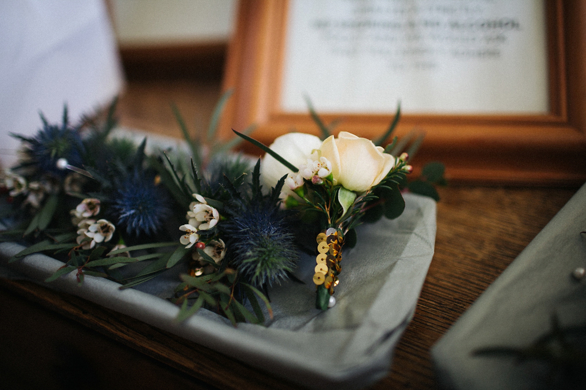
<svg viewBox="0 0 586 390">
<path fill-rule="evenodd" d="M 403 147 L 396 137 L 383 149 L 350 133 L 331 136 L 311 105 L 323 141 L 290 133 L 268 148 L 246 135 L 250 127 L 219 143 L 217 119 L 228 97 L 205 139 L 192 139 L 175 109 L 187 152 L 146 153 L 146 139 L 137 145 L 111 136 L 115 102 L 105 118 L 76 124 L 66 109 L 61 125 L 41 116 L 36 136 L 16 135 L 21 159 L 2 180 L 0 212 L 12 227 L 2 239 L 29 245 L 9 262 L 44 252 L 64 262 L 47 282 L 75 272 L 79 283 L 91 275 L 121 289 L 182 267 L 169 297 L 180 305 L 178 320 L 205 307 L 234 324 L 263 323 L 271 315 L 268 288 L 294 278 L 305 250 L 317 254 L 316 307 L 331 307 L 342 247 L 355 243 L 355 227 L 403 211 L 408 154 L 393 156 Z M 389 137 L 398 114 L 377 143 Z M 242 139 L 267 156 L 231 153 Z M 412 184 L 437 196 L 431 184 L 443 181 L 443 167 L 425 170 Z"/>
</svg>

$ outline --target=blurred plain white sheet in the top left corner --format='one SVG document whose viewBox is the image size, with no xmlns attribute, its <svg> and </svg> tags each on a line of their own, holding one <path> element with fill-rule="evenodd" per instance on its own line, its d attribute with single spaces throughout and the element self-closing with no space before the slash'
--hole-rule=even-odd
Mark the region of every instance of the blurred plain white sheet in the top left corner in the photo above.
<svg viewBox="0 0 586 390">
<path fill-rule="evenodd" d="M 20 143 L 33 136 L 39 112 L 71 122 L 112 99 L 122 87 L 120 61 L 100 0 L 0 2 L 0 163 L 16 162 Z"/>
</svg>

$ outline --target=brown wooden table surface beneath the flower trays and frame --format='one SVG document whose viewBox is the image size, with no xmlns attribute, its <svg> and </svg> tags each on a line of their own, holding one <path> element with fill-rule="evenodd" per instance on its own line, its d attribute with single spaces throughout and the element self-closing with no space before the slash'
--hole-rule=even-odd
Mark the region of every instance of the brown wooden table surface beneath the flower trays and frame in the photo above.
<svg viewBox="0 0 586 390">
<path fill-rule="evenodd" d="M 142 123 L 143 129 L 178 135 L 175 127 L 165 127 L 172 118 L 161 115 L 161 102 L 189 96 L 189 83 L 178 83 L 171 92 L 153 85 L 130 85 L 130 98 L 121 103 L 122 124 Z M 201 116 L 209 118 L 209 101 L 219 88 L 202 88 L 207 111 Z M 153 115 L 164 118 L 148 120 Z M 435 255 L 414 319 L 398 343 L 390 374 L 371 388 L 434 388 L 430 347 L 577 189 L 441 188 Z M 0 302 L 0 378 L 7 388 L 297 388 L 131 317 L 30 282 L 0 279 Z"/>
</svg>

